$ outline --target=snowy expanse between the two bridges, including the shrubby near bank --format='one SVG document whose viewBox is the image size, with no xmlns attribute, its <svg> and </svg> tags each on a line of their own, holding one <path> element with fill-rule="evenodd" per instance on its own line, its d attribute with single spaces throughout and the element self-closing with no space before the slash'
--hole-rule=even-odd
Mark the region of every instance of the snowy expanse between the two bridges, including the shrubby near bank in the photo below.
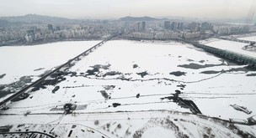
<svg viewBox="0 0 256 138">
<path fill-rule="evenodd" d="M 190 44 L 109 41 L 37 85 L 26 100 L 12 102 L 0 120 L 13 131 L 59 137 L 70 130 L 71 137 L 239 137 L 241 130 L 255 136 L 255 125 L 224 121 L 255 115 L 255 75 Z M 77 109 L 63 115 L 67 103 Z"/>
</svg>

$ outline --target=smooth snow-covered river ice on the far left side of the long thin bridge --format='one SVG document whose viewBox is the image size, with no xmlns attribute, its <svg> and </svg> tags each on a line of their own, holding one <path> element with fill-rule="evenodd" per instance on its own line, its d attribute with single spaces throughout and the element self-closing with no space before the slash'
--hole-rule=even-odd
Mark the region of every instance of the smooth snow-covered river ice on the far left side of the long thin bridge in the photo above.
<svg viewBox="0 0 256 138">
<path fill-rule="evenodd" d="M 72 41 L 33 46 L 0 47 L 0 84 L 10 84 L 24 75 L 39 75 L 64 64 L 99 41 Z M 40 69 L 42 68 L 42 69 Z M 34 71 L 35 69 L 40 69 Z"/>
</svg>

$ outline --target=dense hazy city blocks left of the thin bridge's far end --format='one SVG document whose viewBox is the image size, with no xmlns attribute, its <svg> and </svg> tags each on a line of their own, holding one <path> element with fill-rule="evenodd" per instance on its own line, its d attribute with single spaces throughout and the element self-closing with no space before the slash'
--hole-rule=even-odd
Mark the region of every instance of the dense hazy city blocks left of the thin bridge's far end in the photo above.
<svg viewBox="0 0 256 138">
<path fill-rule="evenodd" d="M 116 23 L 91 23 L 87 25 L 35 24 L 16 28 L 0 28 L 0 45 L 10 42 L 34 43 L 68 39 L 101 39 L 118 33 Z"/>
</svg>

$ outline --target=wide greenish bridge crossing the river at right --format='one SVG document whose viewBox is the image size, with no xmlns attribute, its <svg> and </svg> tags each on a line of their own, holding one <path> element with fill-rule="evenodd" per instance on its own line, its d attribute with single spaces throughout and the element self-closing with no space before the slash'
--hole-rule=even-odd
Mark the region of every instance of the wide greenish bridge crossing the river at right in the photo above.
<svg viewBox="0 0 256 138">
<path fill-rule="evenodd" d="M 209 52 L 211 54 L 216 54 L 217 56 L 221 56 L 226 59 L 231 59 L 232 61 L 236 61 L 237 63 L 248 64 L 249 66 L 256 68 L 256 58 L 254 57 L 250 57 L 244 54 L 238 54 L 228 50 L 216 49 L 204 44 L 189 41 L 187 39 L 180 38 L 179 40 L 183 41 L 184 43 L 193 44 L 195 47 L 204 49 L 206 52 Z M 248 42 L 251 42 L 251 41 L 248 41 Z"/>
</svg>

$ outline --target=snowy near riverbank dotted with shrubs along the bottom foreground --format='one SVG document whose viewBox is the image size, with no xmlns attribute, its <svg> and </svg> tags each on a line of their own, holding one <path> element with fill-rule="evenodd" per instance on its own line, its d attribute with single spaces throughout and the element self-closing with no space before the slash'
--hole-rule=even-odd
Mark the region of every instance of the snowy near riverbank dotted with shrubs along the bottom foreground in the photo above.
<svg viewBox="0 0 256 138">
<path fill-rule="evenodd" d="M 44 119 L 43 124 L 40 121 L 36 122 L 39 120 L 38 116 Z M 184 135 L 189 137 L 198 137 L 199 135 L 240 137 L 235 130 L 229 129 L 230 124 L 227 122 L 173 111 L 28 115 L 20 118 L 15 115 L 1 115 L 0 119 L 19 122 L 14 123 L 16 125 L 12 131 L 38 130 L 48 134 L 51 131 L 58 137 L 67 137 L 70 130 L 73 131 L 71 137 L 99 137 L 100 135 L 104 137 L 136 137 L 135 135 L 141 135 L 141 137 L 149 138 L 155 138 L 157 135 L 159 137 L 167 137 L 168 135 L 171 137 L 184 137 Z M 96 120 L 99 121 L 99 124 L 94 124 Z M 24 122 L 31 125 L 17 127 Z M 3 121 L 3 125 L 6 125 L 6 121 Z M 72 128 L 74 125 L 75 128 Z M 238 126 L 243 130 L 250 130 L 246 125 Z M 253 126 L 250 127 L 254 128 Z"/>
</svg>

